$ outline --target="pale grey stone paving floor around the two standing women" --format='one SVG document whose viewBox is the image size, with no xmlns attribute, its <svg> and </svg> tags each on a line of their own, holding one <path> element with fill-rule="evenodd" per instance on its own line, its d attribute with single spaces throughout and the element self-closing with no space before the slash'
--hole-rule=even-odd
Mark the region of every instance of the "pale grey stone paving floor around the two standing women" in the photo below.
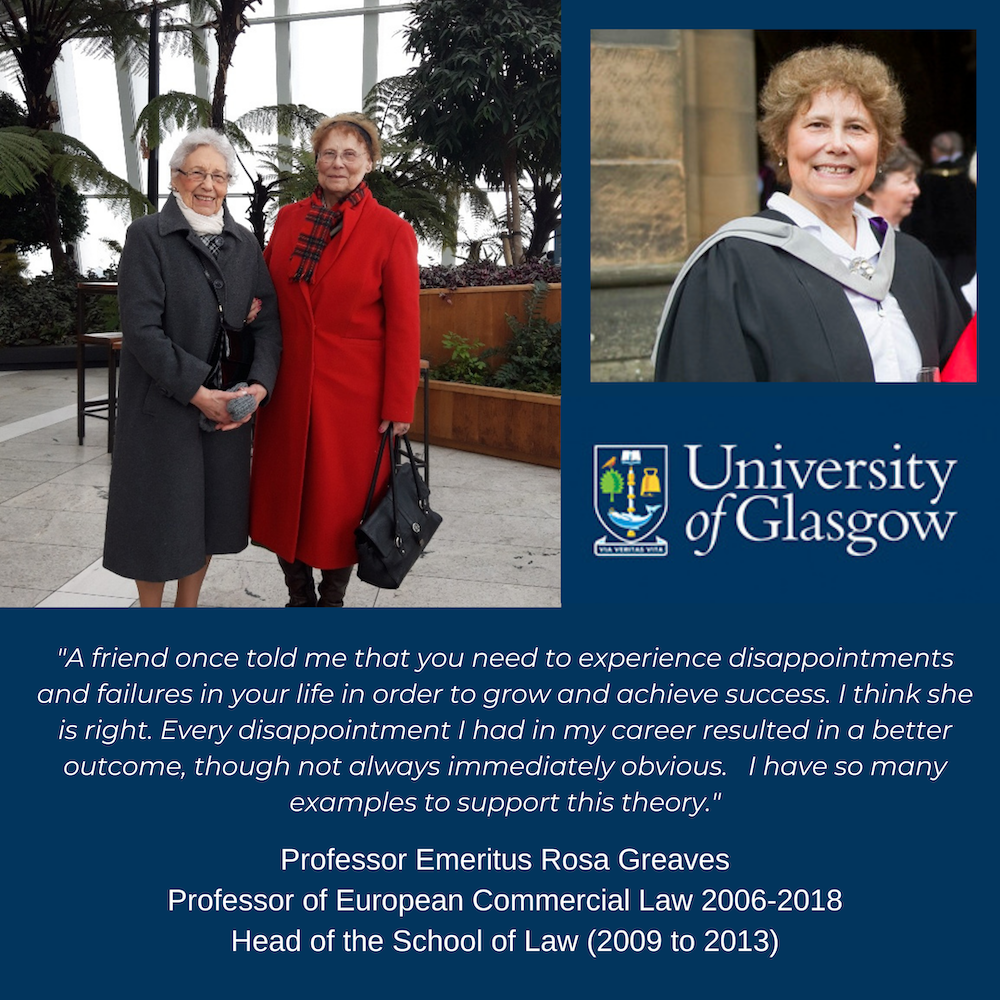
<svg viewBox="0 0 1000 1000">
<path fill-rule="evenodd" d="M 98 393 L 102 371 L 87 382 Z M 558 607 L 559 470 L 436 447 L 430 459 L 444 520 L 427 552 L 399 590 L 353 579 L 346 606 Z M 0 607 L 137 606 L 134 584 L 101 566 L 110 469 L 104 421 L 77 441 L 75 371 L 0 371 Z M 274 556 L 251 545 L 212 560 L 201 604 L 285 600 Z"/>
</svg>

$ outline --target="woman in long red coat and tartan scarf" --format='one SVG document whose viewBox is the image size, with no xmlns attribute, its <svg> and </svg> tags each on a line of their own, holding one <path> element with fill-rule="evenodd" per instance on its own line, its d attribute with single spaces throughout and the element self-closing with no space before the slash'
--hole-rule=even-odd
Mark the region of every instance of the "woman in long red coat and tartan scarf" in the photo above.
<svg viewBox="0 0 1000 1000">
<path fill-rule="evenodd" d="M 335 115 L 312 145 L 319 185 L 281 209 L 264 253 L 284 354 L 258 417 L 250 535 L 277 554 L 286 607 L 339 608 L 381 436 L 413 418 L 420 279 L 412 228 L 365 184 L 381 152 L 374 123 Z"/>
</svg>

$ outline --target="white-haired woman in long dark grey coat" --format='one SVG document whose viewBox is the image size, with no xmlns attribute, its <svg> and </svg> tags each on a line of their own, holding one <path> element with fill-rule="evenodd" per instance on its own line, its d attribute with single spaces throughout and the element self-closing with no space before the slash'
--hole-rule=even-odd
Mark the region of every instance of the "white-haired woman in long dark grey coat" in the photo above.
<svg viewBox="0 0 1000 1000">
<path fill-rule="evenodd" d="M 211 129 L 171 157 L 162 211 L 129 227 L 118 273 L 118 425 L 104 565 L 159 607 L 196 607 L 215 553 L 247 545 L 250 421 L 281 334 L 253 234 L 225 206 L 236 157 Z"/>
</svg>

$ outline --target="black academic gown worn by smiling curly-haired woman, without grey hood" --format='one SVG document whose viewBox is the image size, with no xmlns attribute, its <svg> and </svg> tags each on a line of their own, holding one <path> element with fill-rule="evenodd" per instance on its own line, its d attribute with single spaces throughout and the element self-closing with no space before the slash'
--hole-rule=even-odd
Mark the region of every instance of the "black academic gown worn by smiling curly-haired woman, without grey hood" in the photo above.
<svg viewBox="0 0 1000 1000">
<path fill-rule="evenodd" d="M 791 222 L 771 210 L 759 216 Z M 937 262 L 902 233 L 890 289 L 923 364 L 943 366 L 962 318 Z M 843 287 L 797 257 L 740 237 L 717 243 L 692 267 L 666 317 L 655 361 L 660 382 L 875 379 Z"/>
</svg>

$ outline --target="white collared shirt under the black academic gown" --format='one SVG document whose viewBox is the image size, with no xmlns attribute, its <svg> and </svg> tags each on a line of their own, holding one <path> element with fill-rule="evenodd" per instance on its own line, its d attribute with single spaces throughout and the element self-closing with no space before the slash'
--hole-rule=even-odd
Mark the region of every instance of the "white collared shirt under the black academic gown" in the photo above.
<svg viewBox="0 0 1000 1000">
<path fill-rule="evenodd" d="M 843 261 L 846 269 L 849 270 L 851 261 L 858 257 L 863 257 L 872 265 L 878 263 L 882 248 L 868 224 L 871 213 L 866 215 L 866 210 L 861 206 L 855 205 L 854 211 L 858 223 L 856 247 L 852 247 L 804 205 L 780 191 L 771 195 L 767 207 L 787 215 L 800 229 L 812 233 L 827 250 Z M 850 288 L 844 288 L 844 294 L 865 335 L 872 368 L 875 370 L 875 381 L 915 382 L 922 365 L 920 347 L 896 297 L 890 292 L 881 302 L 877 302 Z"/>
</svg>

